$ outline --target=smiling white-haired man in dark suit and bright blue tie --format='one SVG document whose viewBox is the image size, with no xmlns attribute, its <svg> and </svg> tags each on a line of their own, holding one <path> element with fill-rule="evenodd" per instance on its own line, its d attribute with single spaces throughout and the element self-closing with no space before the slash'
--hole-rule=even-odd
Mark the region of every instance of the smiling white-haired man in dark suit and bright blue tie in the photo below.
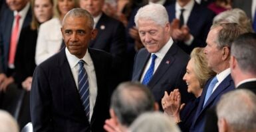
<svg viewBox="0 0 256 132">
<path fill-rule="evenodd" d="M 184 97 L 182 102 L 193 98 L 182 80 L 189 56 L 172 40 L 164 6 L 150 4 L 142 7 L 135 16 L 135 22 L 145 48 L 136 54 L 132 81 L 140 81 L 150 88 L 160 110 L 164 91 L 179 88 Z"/>
</svg>

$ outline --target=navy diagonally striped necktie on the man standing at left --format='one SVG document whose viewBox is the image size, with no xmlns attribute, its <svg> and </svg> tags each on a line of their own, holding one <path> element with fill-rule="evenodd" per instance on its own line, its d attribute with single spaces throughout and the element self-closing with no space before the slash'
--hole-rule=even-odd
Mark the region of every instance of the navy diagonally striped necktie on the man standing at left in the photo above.
<svg viewBox="0 0 256 132">
<path fill-rule="evenodd" d="M 89 82 L 88 75 L 84 69 L 84 61 L 81 59 L 79 62 L 79 71 L 78 71 L 78 91 L 80 94 L 80 98 L 82 100 L 82 105 L 84 106 L 84 112 L 90 119 L 90 90 L 89 90 Z"/>
</svg>

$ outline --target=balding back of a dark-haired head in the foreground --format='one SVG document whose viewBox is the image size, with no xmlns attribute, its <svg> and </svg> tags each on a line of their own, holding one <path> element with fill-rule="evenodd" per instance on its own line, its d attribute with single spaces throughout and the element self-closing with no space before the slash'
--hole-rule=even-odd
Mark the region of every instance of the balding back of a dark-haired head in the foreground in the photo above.
<svg viewBox="0 0 256 132">
<path fill-rule="evenodd" d="M 123 82 L 114 90 L 110 108 L 120 123 L 128 127 L 140 114 L 154 110 L 154 96 L 138 82 Z"/>
</svg>

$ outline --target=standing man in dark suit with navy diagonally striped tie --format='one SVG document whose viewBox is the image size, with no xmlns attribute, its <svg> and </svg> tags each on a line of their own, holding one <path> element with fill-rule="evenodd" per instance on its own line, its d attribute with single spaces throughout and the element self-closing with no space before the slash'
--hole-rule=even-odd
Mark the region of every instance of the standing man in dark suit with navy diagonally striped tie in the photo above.
<svg viewBox="0 0 256 132">
<path fill-rule="evenodd" d="M 93 18 L 72 9 L 63 18 L 64 43 L 33 75 L 31 120 L 34 131 L 103 131 L 109 117 L 111 55 L 88 48 L 96 37 Z"/>
</svg>

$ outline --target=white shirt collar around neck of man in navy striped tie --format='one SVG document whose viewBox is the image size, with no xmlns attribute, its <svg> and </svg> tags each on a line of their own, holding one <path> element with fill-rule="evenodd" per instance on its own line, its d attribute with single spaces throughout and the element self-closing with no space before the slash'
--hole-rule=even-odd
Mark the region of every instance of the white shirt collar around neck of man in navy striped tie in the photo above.
<svg viewBox="0 0 256 132">
<path fill-rule="evenodd" d="M 68 63 L 70 65 L 70 68 L 74 68 L 78 62 L 81 60 L 75 55 L 72 55 L 69 51 L 68 48 L 65 48 L 65 53 L 66 53 L 66 58 L 68 59 Z M 82 60 L 84 60 L 86 65 L 90 65 L 90 53 L 88 52 L 88 49 L 86 49 L 86 53 L 84 57 L 82 57 Z"/>
</svg>

